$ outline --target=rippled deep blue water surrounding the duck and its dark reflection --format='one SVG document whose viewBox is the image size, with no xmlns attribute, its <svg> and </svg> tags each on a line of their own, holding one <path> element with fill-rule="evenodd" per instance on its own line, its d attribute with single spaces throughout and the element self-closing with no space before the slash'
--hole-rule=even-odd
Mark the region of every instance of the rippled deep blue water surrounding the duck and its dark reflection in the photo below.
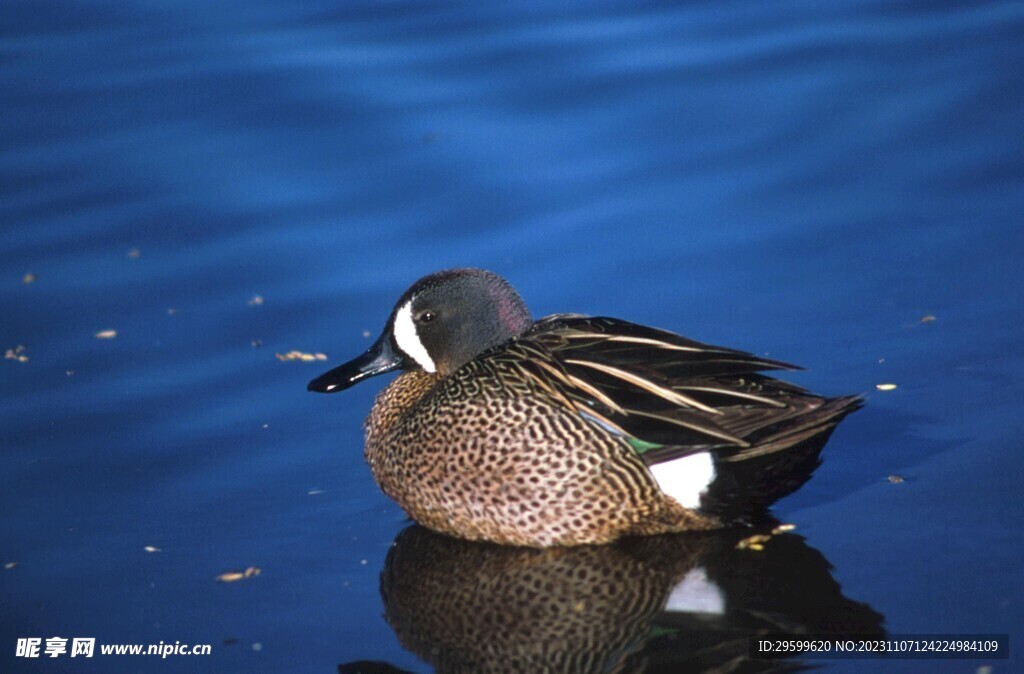
<svg viewBox="0 0 1024 674">
<path fill-rule="evenodd" d="M 430 671 L 384 382 L 305 383 L 456 265 L 865 393 L 776 514 L 890 632 L 1019 645 L 1024 5 L 675 4 L 7 0 L 2 669 Z M 14 658 L 55 635 L 213 652 Z"/>
</svg>

